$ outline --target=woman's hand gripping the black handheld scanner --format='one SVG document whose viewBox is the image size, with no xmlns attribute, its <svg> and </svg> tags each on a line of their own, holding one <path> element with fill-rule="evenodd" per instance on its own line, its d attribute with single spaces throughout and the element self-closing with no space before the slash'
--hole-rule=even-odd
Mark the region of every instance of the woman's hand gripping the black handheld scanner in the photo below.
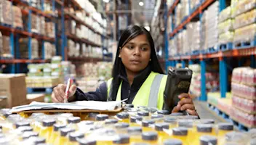
<svg viewBox="0 0 256 145">
<path fill-rule="evenodd" d="M 180 94 L 179 96 L 180 101 L 177 103 L 177 106 L 172 109 L 172 112 L 179 112 L 185 110 L 190 115 L 197 115 L 196 107 L 193 104 L 193 100 L 189 94 Z"/>
</svg>

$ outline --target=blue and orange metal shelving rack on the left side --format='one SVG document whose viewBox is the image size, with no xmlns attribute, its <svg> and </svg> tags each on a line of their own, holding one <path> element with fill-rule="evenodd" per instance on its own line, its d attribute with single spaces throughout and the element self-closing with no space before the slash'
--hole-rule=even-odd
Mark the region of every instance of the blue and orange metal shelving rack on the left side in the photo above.
<svg viewBox="0 0 256 145">
<path fill-rule="evenodd" d="M 56 46 L 56 54 L 63 57 L 63 60 L 71 60 L 72 62 L 76 61 L 88 61 L 88 62 L 98 62 L 103 61 L 103 59 L 99 58 L 91 58 L 91 57 L 69 57 L 67 55 L 67 40 L 70 38 L 76 43 L 87 43 L 91 46 L 99 46 L 96 43 L 89 41 L 87 39 L 77 38 L 76 36 L 66 35 L 65 34 L 65 18 L 71 18 L 72 20 L 75 20 L 79 24 L 87 26 L 87 28 L 91 29 L 95 33 L 101 35 L 102 40 L 104 41 L 105 38 L 109 38 L 106 34 L 100 34 L 97 30 L 92 28 L 90 25 L 87 25 L 85 22 L 82 22 L 77 17 L 75 17 L 72 14 L 68 14 L 64 12 L 64 8 L 68 7 L 68 4 L 71 4 L 72 7 L 79 10 L 84 10 L 75 0 L 51 0 L 52 2 L 52 11 L 55 12 L 55 9 L 58 10 L 58 16 L 47 14 L 44 12 L 44 0 L 41 0 L 41 9 L 37 9 L 35 7 L 31 6 L 31 0 L 27 3 L 22 0 L 9 0 L 12 2 L 12 4 L 22 5 L 23 7 L 26 7 L 26 9 L 21 9 L 23 15 L 28 15 L 28 31 L 20 29 L 20 28 L 14 28 L 12 25 L 4 25 L 0 24 L 0 31 L 5 36 L 10 37 L 10 48 L 11 48 L 11 54 L 12 58 L 0 58 L 1 64 L 10 64 L 11 70 L 9 72 L 11 73 L 18 73 L 20 72 L 20 64 L 26 64 L 26 63 L 46 63 L 50 62 L 49 59 L 44 59 L 44 45 L 42 45 L 41 52 L 42 56 L 40 59 L 32 59 L 31 58 L 31 39 L 36 38 L 38 41 L 41 41 L 43 44 L 45 41 L 49 41 L 50 43 L 54 43 Z M 48 36 L 42 36 L 37 33 L 31 32 L 31 14 L 39 14 L 41 16 L 44 16 L 47 19 L 52 20 L 52 22 L 55 22 L 55 38 L 51 38 Z M 61 19 L 61 34 L 58 33 L 57 30 L 57 22 L 56 19 Z M 93 19 L 95 22 L 97 20 Z M 100 22 L 98 22 L 100 24 Z M 101 24 L 100 24 L 101 25 Z M 103 27 L 103 25 L 101 25 Z M 28 38 L 28 58 L 27 59 L 20 59 L 20 53 L 19 53 L 19 38 L 24 37 Z M 59 39 L 62 40 L 61 46 L 57 43 Z M 60 49 L 59 49 L 60 47 Z"/>
</svg>

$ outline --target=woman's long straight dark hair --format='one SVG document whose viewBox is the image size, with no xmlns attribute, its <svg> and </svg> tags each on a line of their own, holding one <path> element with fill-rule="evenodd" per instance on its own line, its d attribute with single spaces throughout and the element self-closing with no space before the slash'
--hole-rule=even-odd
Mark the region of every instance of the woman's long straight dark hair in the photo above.
<svg viewBox="0 0 256 145">
<path fill-rule="evenodd" d="M 150 65 L 151 71 L 158 72 L 161 74 L 164 73 L 159 64 L 159 59 L 157 59 L 156 57 L 155 46 L 151 34 L 148 32 L 148 30 L 146 30 L 143 27 L 137 25 L 129 26 L 126 30 L 124 30 L 124 33 L 121 34 L 117 46 L 116 59 L 113 64 L 112 70 L 113 80 L 111 83 L 110 97 L 108 98 L 108 101 L 116 100 L 117 91 L 121 83 L 121 78 L 119 78 L 119 75 L 121 74 L 121 71 L 125 68 L 123 62 L 121 62 L 121 59 L 119 58 L 120 48 L 122 49 L 127 42 L 132 40 L 132 38 L 135 38 L 143 34 L 145 34 L 145 36 L 148 38 L 148 42 L 150 43 L 151 46 L 151 61 L 148 63 L 148 65 Z"/>
</svg>

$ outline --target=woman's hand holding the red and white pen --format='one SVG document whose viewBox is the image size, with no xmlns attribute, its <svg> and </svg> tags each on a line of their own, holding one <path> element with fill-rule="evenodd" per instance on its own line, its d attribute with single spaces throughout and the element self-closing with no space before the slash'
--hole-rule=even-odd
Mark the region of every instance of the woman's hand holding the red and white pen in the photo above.
<svg viewBox="0 0 256 145">
<path fill-rule="evenodd" d="M 63 103 L 65 99 L 65 88 L 67 86 L 64 84 L 59 84 L 52 91 L 52 102 L 54 103 Z M 76 86 L 72 85 L 69 88 L 68 98 L 73 97 L 76 93 Z"/>
</svg>

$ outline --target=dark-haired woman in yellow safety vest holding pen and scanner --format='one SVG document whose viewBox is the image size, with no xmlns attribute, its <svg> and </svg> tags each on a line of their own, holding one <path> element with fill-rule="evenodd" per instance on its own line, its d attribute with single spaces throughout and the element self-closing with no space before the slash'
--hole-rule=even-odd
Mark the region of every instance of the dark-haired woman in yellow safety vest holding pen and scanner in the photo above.
<svg viewBox="0 0 256 145">
<path fill-rule="evenodd" d="M 95 92 L 84 93 L 76 86 L 71 86 L 68 101 L 127 99 L 127 103 L 135 106 L 162 109 L 167 75 L 160 74 L 163 74 L 163 70 L 156 57 L 151 34 L 145 28 L 131 26 L 124 30 L 119 40 L 113 65 L 113 78 L 107 83 L 102 83 Z M 65 88 L 63 84 L 54 88 L 53 102 L 63 102 Z M 175 108 L 170 109 L 172 112 L 186 110 L 190 115 L 197 115 L 188 94 L 180 94 L 179 98 L 181 101 Z"/>
</svg>

